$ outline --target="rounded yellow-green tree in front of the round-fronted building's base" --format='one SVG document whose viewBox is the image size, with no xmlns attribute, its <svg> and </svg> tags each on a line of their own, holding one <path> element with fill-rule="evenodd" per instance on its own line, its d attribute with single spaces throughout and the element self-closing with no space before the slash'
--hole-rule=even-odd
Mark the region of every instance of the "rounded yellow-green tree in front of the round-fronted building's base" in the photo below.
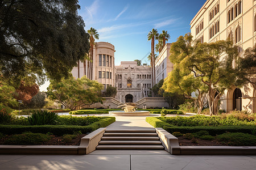
<svg viewBox="0 0 256 170">
<path fill-rule="evenodd" d="M 76 107 L 83 107 L 101 102 L 102 84 L 82 76 L 82 78 L 50 80 L 47 95 L 51 100 L 57 100 L 65 108 L 72 111 Z"/>
</svg>

